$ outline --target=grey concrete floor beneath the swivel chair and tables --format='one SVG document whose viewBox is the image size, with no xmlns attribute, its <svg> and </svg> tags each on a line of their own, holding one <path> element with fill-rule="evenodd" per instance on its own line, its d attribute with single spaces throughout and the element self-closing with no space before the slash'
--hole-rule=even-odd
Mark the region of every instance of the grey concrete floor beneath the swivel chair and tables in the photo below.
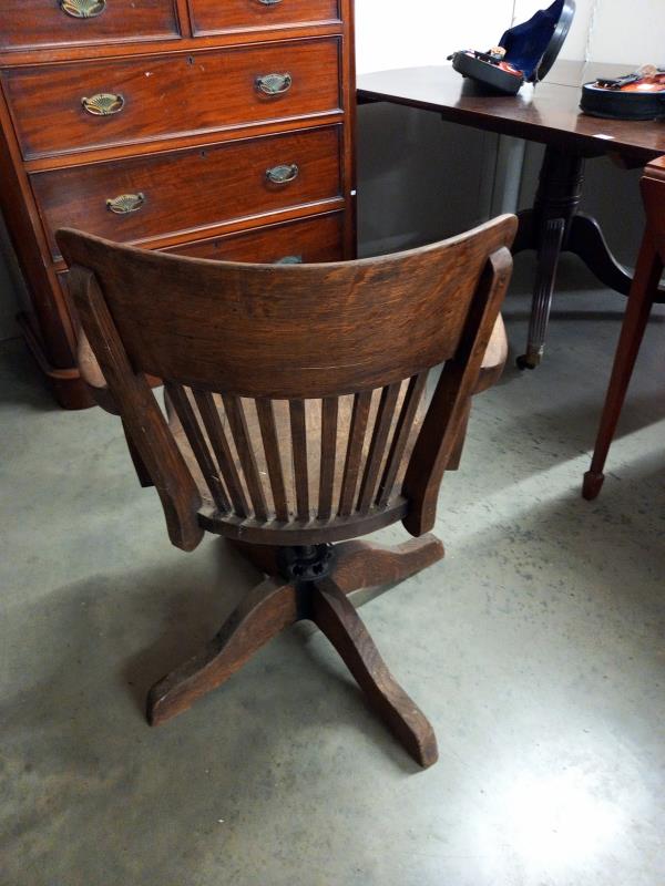
<svg viewBox="0 0 665 886">
<path fill-rule="evenodd" d="M 362 606 L 437 731 L 426 772 L 301 627 L 145 724 L 147 687 L 258 576 L 221 539 L 172 548 L 117 422 L 58 410 L 3 344 L 3 886 L 662 886 L 661 309 L 605 487 L 580 497 L 623 303 L 563 269 L 545 363 L 477 400 L 444 480 L 447 558 Z"/>
</svg>

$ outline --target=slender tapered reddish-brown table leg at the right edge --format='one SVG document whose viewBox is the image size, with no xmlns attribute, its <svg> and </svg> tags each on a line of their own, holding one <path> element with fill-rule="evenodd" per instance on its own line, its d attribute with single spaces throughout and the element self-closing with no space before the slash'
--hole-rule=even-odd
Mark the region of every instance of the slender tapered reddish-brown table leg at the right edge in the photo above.
<svg viewBox="0 0 665 886">
<path fill-rule="evenodd" d="M 603 406 L 591 467 L 584 474 L 582 496 L 587 501 L 592 501 L 597 496 L 605 480 L 603 467 L 605 466 L 610 444 L 614 437 L 618 416 L 621 415 L 652 305 L 657 296 L 662 270 L 663 264 L 651 243 L 651 238 L 646 236 L 640 253 L 635 279 L 628 296 L 621 336 L 616 346 L 612 377 Z"/>
</svg>

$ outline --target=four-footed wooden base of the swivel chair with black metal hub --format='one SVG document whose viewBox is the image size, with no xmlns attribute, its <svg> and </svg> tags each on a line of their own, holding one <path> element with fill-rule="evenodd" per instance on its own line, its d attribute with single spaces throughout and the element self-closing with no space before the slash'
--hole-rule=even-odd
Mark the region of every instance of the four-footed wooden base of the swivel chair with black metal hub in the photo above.
<svg viewBox="0 0 665 886">
<path fill-rule="evenodd" d="M 437 739 L 430 723 L 388 670 L 346 595 L 400 581 L 430 566 L 443 556 L 441 542 L 426 535 L 395 548 L 364 542 L 346 542 L 332 549 L 321 546 L 326 548 L 326 563 L 316 560 L 316 548 L 234 544 L 268 578 L 245 597 L 197 656 L 150 690 L 149 722 L 157 725 L 185 711 L 227 680 L 276 633 L 295 621 L 309 619 L 337 649 L 370 705 L 411 756 L 421 766 L 434 763 Z M 299 560 L 299 556 L 305 559 Z"/>
</svg>

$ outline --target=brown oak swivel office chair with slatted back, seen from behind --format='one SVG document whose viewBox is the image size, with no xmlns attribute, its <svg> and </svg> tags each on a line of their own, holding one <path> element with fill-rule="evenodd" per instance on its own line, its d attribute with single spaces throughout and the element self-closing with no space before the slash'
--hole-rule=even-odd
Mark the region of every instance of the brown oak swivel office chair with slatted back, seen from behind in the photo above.
<svg viewBox="0 0 665 886">
<path fill-rule="evenodd" d="M 216 262 L 58 233 L 139 476 L 174 545 L 226 536 L 266 579 L 147 715 L 188 708 L 294 621 L 311 619 L 423 766 L 434 733 L 347 595 L 443 556 L 428 533 L 510 278 L 515 218 L 443 243 L 326 265 Z M 431 400 L 426 379 L 446 363 Z M 146 375 L 164 380 L 168 418 Z M 347 540 L 401 521 L 393 549 Z M 426 616 L 426 614 L 423 614 Z"/>
</svg>

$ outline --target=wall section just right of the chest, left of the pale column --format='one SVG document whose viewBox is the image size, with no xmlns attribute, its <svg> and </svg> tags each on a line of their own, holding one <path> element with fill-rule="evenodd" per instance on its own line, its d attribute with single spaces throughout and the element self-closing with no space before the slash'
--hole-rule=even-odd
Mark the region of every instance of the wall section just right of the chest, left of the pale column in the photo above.
<svg viewBox="0 0 665 886">
<path fill-rule="evenodd" d="M 495 43 L 513 0 L 448 3 L 356 0 L 359 74 L 444 64 L 466 47 Z M 358 109 L 358 244 L 361 255 L 415 246 L 490 214 L 498 136 L 388 104 Z"/>
</svg>

